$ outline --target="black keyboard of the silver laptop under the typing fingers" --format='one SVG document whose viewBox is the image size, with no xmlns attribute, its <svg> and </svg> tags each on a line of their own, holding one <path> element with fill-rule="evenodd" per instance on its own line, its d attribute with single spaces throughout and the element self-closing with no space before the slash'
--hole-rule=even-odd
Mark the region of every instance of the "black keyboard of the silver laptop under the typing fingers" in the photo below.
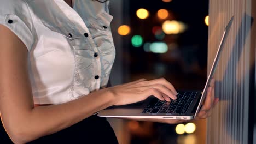
<svg viewBox="0 0 256 144">
<path fill-rule="evenodd" d="M 179 92 L 176 100 L 161 101 L 152 99 L 142 113 L 166 113 L 166 114 L 185 114 L 190 104 L 193 102 L 197 92 Z"/>
</svg>

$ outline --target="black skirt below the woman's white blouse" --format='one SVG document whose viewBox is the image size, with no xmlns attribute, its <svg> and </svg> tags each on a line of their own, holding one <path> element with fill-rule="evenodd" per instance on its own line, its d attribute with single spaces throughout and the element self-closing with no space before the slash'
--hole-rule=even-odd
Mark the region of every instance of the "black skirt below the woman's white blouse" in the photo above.
<svg viewBox="0 0 256 144">
<path fill-rule="evenodd" d="M 12 143 L 0 125 L 0 143 Z M 57 133 L 40 137 L 29 143 L 118 143 L 114 131 L 106 118 L 96 115 L 88 117 Z"/>
</svg>

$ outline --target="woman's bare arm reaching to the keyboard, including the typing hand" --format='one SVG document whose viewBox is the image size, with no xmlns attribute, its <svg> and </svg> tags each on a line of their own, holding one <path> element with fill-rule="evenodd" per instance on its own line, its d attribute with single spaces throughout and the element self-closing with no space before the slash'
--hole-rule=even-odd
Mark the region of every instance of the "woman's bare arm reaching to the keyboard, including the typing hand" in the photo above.
<svg viewBox="0 0 256 144">
<path fill-rule="evenodd" d="M 165 79 L 144 79 L 101 89 L 68 103 L 34 107 L 26 46 L 0 25 L 0 111 L 5 130 L 15 143 L 26 143 L 67 128 L 112 105 L 135 103 L 155 95 L 176 99 Z"/>
</svg>

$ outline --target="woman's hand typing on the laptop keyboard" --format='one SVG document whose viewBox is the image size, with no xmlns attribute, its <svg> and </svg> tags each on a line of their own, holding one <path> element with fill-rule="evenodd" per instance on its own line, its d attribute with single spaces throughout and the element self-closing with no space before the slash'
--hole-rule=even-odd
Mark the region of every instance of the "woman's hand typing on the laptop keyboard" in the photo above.
<svg viewBox="0 0 256 144">
<path fill-rule="evenodd" d="M 170 82 L 163 78 L 150 81 L 140 79 L 123 85 L 110 87 L 109 91 L 114 95 L 114 105 L 136 103 L 147 99 L 150 95 L 154 95 L 160 100 L 166 101 L 177 98 L 175 88 Z"/>
</svg>

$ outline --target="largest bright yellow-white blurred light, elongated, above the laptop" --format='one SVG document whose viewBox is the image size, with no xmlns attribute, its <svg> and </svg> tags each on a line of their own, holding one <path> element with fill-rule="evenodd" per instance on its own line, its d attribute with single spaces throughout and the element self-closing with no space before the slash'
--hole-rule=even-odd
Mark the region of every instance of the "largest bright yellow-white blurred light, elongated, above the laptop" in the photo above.
<svg viewBox="0 0 256 144">
<path fill-rule="evenodd" d="M 179 21 L 165 21 L 164 23 L 162 23 L 162 30 L 166 33 L 166 34 L 178 34 L 178 33 L 182 33 L 185 31 L 185 25 L 183 22 L 179 22 Z"/>
</svg>

